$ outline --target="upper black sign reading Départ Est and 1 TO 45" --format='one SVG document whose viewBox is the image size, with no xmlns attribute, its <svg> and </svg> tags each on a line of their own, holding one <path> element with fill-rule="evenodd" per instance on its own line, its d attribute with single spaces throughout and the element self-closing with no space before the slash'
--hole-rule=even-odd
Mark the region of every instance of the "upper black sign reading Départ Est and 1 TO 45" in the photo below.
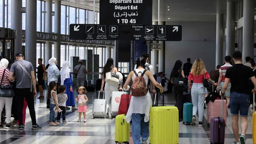
<svg viewBox="0 0 256 144">
<path fill-rule="evenodd" d="M 152 0 L 100 0 L 100 24 L 152 24 Z"/>
</svg>

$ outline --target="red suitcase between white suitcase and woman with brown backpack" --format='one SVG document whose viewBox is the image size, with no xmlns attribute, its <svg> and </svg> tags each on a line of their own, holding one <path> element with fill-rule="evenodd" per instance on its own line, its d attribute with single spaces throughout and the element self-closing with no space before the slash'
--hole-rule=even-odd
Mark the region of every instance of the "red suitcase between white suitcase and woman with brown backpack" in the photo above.
<svg viewBox="0 0 256 144">
<path fill-rule="evenodd" d="M 120 101 L 117 115 L 127 114 L 127 105 L 130 105 L 131 98 L 132 98 L 132 95 L 128 94 L 128 92 L 127 94 L 121 95 L 121 101 Z"/>
</svg>

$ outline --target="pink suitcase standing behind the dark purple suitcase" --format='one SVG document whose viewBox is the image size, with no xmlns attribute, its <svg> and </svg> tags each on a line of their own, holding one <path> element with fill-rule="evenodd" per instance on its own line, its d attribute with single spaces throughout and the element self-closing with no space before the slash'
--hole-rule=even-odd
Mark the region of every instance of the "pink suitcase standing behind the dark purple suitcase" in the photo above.
<svg viewBox="0 0 256 144">
<path fill-rule="evenodd" d="M 227 123 L 227 103 L 224 101 L 223 104 L 224 107 L 224 113 L 223 113 L 223 119 L 225 120 L 225 125 Z M 215 100 L 214 102 L 209 102 L 208 103 L 208 125 L 211 123 L 211 118 L 215 117 L 222 117 L 221 116 L 221 100 Z"/>
</svg>

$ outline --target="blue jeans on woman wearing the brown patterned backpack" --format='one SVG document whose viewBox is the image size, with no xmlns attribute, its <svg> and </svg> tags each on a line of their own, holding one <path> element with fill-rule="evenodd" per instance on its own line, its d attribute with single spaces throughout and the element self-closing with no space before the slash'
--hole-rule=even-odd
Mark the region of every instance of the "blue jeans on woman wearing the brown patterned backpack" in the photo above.
<svg viewBox="0 0 256 144">
<path fill-rule="evenodd" d="M 149 130 L 148 122 L 144 122 L 145 114 L 132 114 L 132 139 L 134 144 L 141 144 L 142 140 L 148 140 Z"/>
</svg>

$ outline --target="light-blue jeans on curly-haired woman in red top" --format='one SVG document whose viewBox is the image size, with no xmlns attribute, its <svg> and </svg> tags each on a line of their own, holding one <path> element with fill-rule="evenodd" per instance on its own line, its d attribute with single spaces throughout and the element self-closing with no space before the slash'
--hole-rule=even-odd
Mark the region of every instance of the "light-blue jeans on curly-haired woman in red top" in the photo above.
<svg viewBox="0 0 256 144">
<path fill-rule="evenodd" d="M 197 114 L 198 119 L 202 122 L 204 116 L 204 99 L 205 99 L 205 87 L 203 84 L 193 83 L 191 89 L 191 97 L 193 103 L 193 115 Z"/>
</svg>

